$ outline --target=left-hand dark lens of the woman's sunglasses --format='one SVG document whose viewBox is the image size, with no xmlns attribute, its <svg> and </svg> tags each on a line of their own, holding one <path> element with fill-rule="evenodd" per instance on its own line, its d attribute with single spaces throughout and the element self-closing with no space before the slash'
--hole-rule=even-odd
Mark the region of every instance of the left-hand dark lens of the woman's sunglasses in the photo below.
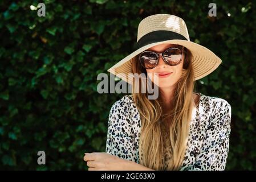
<svg viewBox="0 0 256 182">
<path fill-rule="evenodd" d="M 140 63 L 146 69 L 152 69 L 157 63 L 157 55 L 153 52 L 143 52 L 140 55 Z"/>
</svg>

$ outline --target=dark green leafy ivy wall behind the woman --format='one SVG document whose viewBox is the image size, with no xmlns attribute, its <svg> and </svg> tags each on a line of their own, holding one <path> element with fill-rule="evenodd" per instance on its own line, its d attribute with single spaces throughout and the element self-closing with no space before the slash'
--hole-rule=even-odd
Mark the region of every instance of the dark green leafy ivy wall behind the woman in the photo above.
<svg viewBox="0 0 256 182">
<path fill-rule="evenodd" d="M 39 2 L 46 17 L 30 9 Z M 140 20 L 157 13 L 183 18 L 190 40 L 221 57 L 198 91 L 232 107 L 226 169 L 256 169 L 255 10 L 237 0 L 0 1 L 0 169 L 87 169 L 84 152 L 104 152 L 109 109 L 123 96 L 97 93 L 97 74 L 132 52 Z"/>
</svg>

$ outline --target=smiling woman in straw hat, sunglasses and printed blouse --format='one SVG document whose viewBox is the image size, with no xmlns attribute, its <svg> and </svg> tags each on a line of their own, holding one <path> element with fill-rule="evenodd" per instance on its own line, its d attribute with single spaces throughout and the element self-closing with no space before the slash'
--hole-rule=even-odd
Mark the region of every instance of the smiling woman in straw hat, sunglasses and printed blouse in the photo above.
<svg viewBox="0 0 256 182">
<path fill-rule="evenodd" d="M 113 104 L 105 153 L 84 156 L 89 170 L 224 170 L 231 106 L 194 92 L 194 81 L 220 63 L 212 51 L 190 42 L 181 18 L 156 14 L 143 19 L 135 51 L 109 72 L 133 90 L 142 86 L 129 73 L 145 73 L 159 97 L 133 93 Z"/>
</svg>

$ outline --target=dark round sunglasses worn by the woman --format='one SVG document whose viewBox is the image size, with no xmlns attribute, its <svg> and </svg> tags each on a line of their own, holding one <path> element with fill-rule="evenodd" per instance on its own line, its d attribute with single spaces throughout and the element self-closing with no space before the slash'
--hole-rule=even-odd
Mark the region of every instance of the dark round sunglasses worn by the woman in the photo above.
<svg viewBox="0 0 256 182">
<path fill-rule="evenodd" d="M 143 51 L 139 55 L 140 64 L 145 69 L 153 69 L 159 63 L 159 56 L 170 66 L 180 64 L 182 60 L 183 46 L 169 47 L 164 52 Z"/>
</svg>

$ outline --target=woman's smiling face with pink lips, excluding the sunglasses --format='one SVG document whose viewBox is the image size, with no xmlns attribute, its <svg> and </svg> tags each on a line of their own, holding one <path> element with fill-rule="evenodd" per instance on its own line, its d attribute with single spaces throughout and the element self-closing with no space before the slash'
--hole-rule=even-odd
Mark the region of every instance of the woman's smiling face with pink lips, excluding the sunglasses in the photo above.
<svg viewBox="0 0 256 182">
<path fill-rule="evenodd" d="M 165 49 L 172 47 L 172 44 L 160 44 L 154 47 L 147 49 L 147 51 L 155 51 L 157 53 L 164 52 Z M 174 47 L 174 45 L 173 45 Z M 147 73 L 152 73 L 152 81 L 154 82 L 153 75 L 155 73 L 159 73 L 158 75 L 158 83 L 155 82 L 160 88 L 168 88 L 172 87 L 176 84 L 178 79 L 182 75 L 182 67 L 184 63 L 184 56 L 182 56 L 182 60 L 180 64 L 175 66 L 170 66 L 164 62 L 162 56 L 159 56 L 159 64 L 156 65 L 153 69 L 146 69 Z M 168 74 L 169 73 L 169 74 Z M 166 75 L 167 74 L 167 75 Z M 157 78 L 157 75 L 156 75 Z"/>
</svg>

